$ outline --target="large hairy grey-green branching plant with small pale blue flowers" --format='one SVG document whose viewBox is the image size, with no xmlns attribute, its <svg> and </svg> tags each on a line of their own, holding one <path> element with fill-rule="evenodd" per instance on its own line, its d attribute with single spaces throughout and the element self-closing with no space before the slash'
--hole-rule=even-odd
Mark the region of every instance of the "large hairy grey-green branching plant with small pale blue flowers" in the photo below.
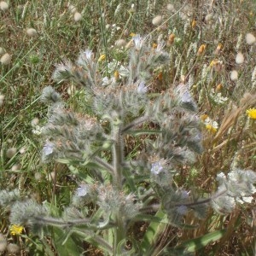
<svg viewBox="0 0 256 256">
<path fill-rule="evenodd" d="M 204 218 L 210 206 L 229 213 L 236 203 L 252 201 L 256 175 L 249 170 L 219 174 L 217 191 L 204 197 L 177 187 L 177 166 L 193 164 L 203 151 L 196 102 L 187 84 L 152 93 L 154 69 L 169 63 L 163 43 L 152 47 L 136 35 L 125 53 L 128 61 L 111 63 L 113 77 L 112 66 L 102 65 L 90 49 L 75 64 L 56 66 L 53 79 L 76 84 L 87 107 L 74 113 L 53 87 L 44 88 L 41 99 L 49 112 L 42 160 L 67 164 L 78 188 L 58 216 L 47 203 L 20 201 L 17 191 L 2 191 L 0 202 L 11 205 L 12 224 L 41 235 L 53 226 L 62 232 L 63 244 L 73 240 L 78 248 L 80 241 L 82 248 L 87 241 L 105 255 L 159 255 L 167 252 L 167 243 L 157 247 L 161 225 L 185 228 L 189 212 Z M 140 142 L 138 154 L 130 154 L 127 135 Z M 148 230 L 137 238 L 142 221 Z"/>
</svg>

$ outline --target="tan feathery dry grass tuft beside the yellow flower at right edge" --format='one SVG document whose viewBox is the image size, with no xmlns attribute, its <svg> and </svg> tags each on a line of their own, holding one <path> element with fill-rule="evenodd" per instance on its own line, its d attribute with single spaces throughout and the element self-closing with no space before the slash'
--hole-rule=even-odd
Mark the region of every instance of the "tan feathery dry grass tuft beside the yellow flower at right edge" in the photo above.
<svg viewBox="0 0 256 256">
<path fill-rule="evenodd" d="M 253 106 L 256 103 L 256 94 L 252 95 L 250 93 L 245 93 L 240 101 L 240 106 L 236 107 L 235 104 L 230 102 L 230 108 L 225 113 L 224 119 L 218 129 L 217 134 L 213 138 L 213 144 L 217 143 L 218 140 L 224 136 L 224 134 L 229 131 L 230 127 L 233 126 L 236 123 L 236 120 L 241 115 L 241 113 L 244 113 L 247 108 L 250 106 Z"/>
</svg>

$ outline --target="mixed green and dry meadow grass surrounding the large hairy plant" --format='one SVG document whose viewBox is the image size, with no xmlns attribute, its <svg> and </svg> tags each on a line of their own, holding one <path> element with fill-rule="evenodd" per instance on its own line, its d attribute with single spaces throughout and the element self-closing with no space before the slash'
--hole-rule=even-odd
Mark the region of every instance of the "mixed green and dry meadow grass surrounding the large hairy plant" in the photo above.
<svg viewBox="0 0 256 256">
<path fill-rule="evenodd" d="M 155 5 L 154 1 L 143 0 L 135 4 L 134 10 L 131 10 L 131 1 L 73 1 L 72 4 L 83 15 L 82 20 L 75 22 L 67 1 L 9 1 L 9 9 L 0 11 L 0 47 L 12 56 L 9 65 L 0 64 L 0 95 L 5 96 L 0 107 L 1 189 L 19 188 L 24 195 L 36 198 L 38 202 L 49 201 L 56 209 L 68 204 L 71 193 L 76 189 L 75 177 L 65 165 L 42 164 L 40 154 L 44 142 L 32 133 L 32 119 L 38 118 L 42 125 L 47 118 L 47 108 L 39 101 L 39 96 L 42 89 L 51 84 L 67 100 L 67 108 L 83 109 L 83 97 L 79 92 L 72 96 L 67 94 L 71 84 L 65 81 L 56 84 L 51 79 L 55 64 L 65 59 L 75 61 L 79 51 L 86 48 L 93 49 L 97 56 L 106 54 L 109 62 L 113 61 L 113 56 L 122 61 L 122 54 L 114 43 L 119 38 L 128 43 L 131 32 L 149 35 L 154 43 L 157 43 L 157 38 L 163 38 L 166 50 L 172 54 L 169 67 L 154 70 L 152 75 L 155 79 L 150 90 L 164 91 L 171 84 L 183 80 L 191 83 L 191 91 L 200 105 L 200 114 L 207 113 L 219 125 L 215 134 L 202 126 L 205 152 L 199 156 L 195 166 L 181 166 L 182 175 L 177 177 L 177 183 L 199 188 L 205 193 L 215 189 L 216 174 L 229 171 L 231 165 L 256 170 L 255 122 L 248 120 L 246 115 L 247 108 L 255 108 L 255 100 L 248 104 L 250 97 L 255 99 L 256 91 L 251 79 L 256 67 L 255 45 L 245 42 L 247 32 L 256 35 L 255 4 L 249 0 L 226 2 L 173 1 L 177 12 L 169 12 L 164 0 L 156 1 Z M 205 17 L 209 13 L 214 13 L 214 17 L 207 23 Z M 157 29 L 151 23 L 155 15 L 163 15 L 165 22 Z M 196 20 L 195 28 L 191 27 L 192 20 Z M 35 37 L 30 38 L 26 34 L 30 27 L 37 30 Z M 175 41 L 168 44 L 171 33 L 175 34 Z M 240 37 L 241 44 L 238 45 Z M 219 43 L 222 48 L 218 55 L 214 55 Z M 207 48 L 203 54 L 197 55 L 201 44 L 206 44 Z M 241 65 L 235 61 L 238 51 L 245 57 Z M 213 60 L 222 61 L 219 71 L 209 67 Z M 239 78 L 231 81 L 230 71 L 234 69 L 238 71 Z M 159 79 L 160 74 L 162 79 Z M 223 84 L 220 92 L 228 98 L 224 105 L 212 100 L 211 90 L 216 91 L 218 84 Z M 248 95 L 245 97 L 246 91 Z M 231 113 L 234 115 L 228 119 Z M 129 145 L 134 148 L 130 151 L 131 157 L 136 156 L 140 142 L 129 141 L 128 137 L 127 143 L 128 148 Z M 6 156 L 8 148 L 18 150 L 11 159 Z M 20 153 L 20 148 L 26 148 L 25 153 Z M 20 168 L 15 168 L 15 165 Z M 50 173 L 55 173 L 54 179 L 49 180 Z M 37 179 L 36 174 L 41 177 Z M 11 236 L 8 210 L 1 209 L 0 212 L 0 232 L 18 244 L 23 255 L 29 255 L 26 250 L 31 253 L 54 252 L 46 238 L 39 241 L 28 229 L 24 233 L 30 237 L 29 240 Z M 189 247 L 193 248 L 193 239 L 214 232 L 219 236 L 221 231 L 218 230 L 226 229 L 225 236 L 220 236 L 220 240 L 207 247 L 204 245 L 204 251 L 201 248 L 200 252 L 252 255 L 255 243 L 253 221 L 253 206 L 237 210 L 228 217 L 209 212 L 204 221 L 188 216 L 186 224 L 198 224 L 199 227 L 191 231 L 178 230 L 179 236 L 175 236 L 175 241 L 183 244 L 183 241 L 191 240 Z M 170 239 L 173 239 L 172 233 L 169 232 Z"/>
</svg>

